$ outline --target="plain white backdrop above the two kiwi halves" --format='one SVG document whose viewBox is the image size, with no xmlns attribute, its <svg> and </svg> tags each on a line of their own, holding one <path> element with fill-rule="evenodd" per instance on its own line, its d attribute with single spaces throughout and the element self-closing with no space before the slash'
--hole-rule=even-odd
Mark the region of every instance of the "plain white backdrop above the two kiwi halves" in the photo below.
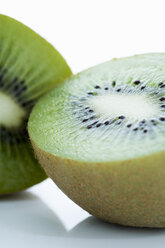
<svg viewBox="0 0 165 248">
<path fill-rule="evenodd" d="M 165 51 L 164 0 L 0 0 L 0 12 L 51 42 L 74 73 L 113 57 Z"/>
</svg>

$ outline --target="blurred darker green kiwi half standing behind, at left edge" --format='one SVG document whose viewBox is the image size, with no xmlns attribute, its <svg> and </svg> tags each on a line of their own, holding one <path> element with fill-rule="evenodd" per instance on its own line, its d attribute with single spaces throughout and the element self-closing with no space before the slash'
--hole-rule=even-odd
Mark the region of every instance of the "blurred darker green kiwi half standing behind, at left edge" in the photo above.
<svg viewBox="0 0 165 248">
<path fill-rule="evenodd" d="M 27 119 L 37 99 L 70 74 L 52 45 L 22 23 L 0 15 L 0 194 L 46 178 L 34 158 Z"/>
</svg>

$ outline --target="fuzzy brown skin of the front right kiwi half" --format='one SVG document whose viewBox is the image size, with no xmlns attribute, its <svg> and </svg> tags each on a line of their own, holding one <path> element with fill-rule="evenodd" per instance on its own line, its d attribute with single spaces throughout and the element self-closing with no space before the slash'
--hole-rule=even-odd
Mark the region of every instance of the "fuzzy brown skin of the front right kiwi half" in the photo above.
<svg viewBox="0 0 165 248">
<path fill-rule="evenodd" d="M 165 227 L 165 152 L 87 163 L 49 154 L 31 141 L 47 175 L 90 214 L 126 226 Z"/>
</svg>

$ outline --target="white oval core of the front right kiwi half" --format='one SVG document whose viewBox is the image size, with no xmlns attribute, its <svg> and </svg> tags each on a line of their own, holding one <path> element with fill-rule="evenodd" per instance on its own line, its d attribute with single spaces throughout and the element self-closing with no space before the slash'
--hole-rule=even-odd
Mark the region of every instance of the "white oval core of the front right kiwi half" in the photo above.
<svg viewBox="0 0 165 248">
<path fill-rule="evenodd" d="M 125 116 L 132 120 L 149 119 L 160 113 L 158 104 L 146 95 L 107 94 L 92 97 L 89 100 L 93 110 L 101 116 Z"/>
</svg>

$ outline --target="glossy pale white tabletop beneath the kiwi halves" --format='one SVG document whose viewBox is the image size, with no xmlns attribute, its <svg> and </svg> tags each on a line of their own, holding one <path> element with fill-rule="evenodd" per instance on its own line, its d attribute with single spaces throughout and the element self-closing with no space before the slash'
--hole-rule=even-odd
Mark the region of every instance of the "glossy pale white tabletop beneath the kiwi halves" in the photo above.
<svg viewBox="0 0 165 248">
<path fill-rule="evenodd" d="M 48 179 L 0 201 L 2 248 L 163 248 L 165 230 L 122 227 L 89 216 Z"/>
</svg>

